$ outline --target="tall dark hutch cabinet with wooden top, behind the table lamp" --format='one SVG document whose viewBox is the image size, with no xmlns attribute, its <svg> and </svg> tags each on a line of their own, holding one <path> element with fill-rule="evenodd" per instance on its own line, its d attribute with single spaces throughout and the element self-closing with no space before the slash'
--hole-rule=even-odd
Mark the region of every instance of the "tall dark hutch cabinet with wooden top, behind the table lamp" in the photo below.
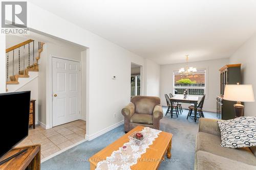
<svg viewBox="0 0 256 170">
<path fill-rule="evenodd" d="M 242 83 L 241 64 L 229 64 L 222 67 L 220 69 L 220 80 L 221 91 L 220 95 L 216 98 L 217 116 L 224 120 L 232 119 L 234 118 L 233 105 L 236 104 L 236 102 L 223 100 L 223 95 L 225 91 L 225 85 Z"/>
</svg>

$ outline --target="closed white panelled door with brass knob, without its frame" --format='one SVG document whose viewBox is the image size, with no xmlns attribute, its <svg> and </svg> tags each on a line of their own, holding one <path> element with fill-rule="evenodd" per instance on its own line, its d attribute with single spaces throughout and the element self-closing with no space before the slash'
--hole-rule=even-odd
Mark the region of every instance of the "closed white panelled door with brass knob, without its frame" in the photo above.
<svg viewBox="0 0 256 170">
<path fill-rule="evenodd" d="M 52 88 L 53 127 L 80 119 L 80 63 L 53 57 Z"/>
</svg>

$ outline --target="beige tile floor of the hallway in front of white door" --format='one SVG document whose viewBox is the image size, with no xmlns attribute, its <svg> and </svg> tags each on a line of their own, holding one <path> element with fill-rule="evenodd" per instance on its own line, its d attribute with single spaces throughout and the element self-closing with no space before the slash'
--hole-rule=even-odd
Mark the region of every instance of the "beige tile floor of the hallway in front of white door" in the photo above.
<svg viewBox="0 0 256 170">
<path fill-rule="evenodd" d="M 85 135 L 86 122 L 83 120 L 76 120 L 51 129 L 37 126 L 35 129 L 29 129 L 28 137 L 17 147 L 39 143 L 41 144 L 41 159 L 44 159 L 83 140 Z"/>
</svg>

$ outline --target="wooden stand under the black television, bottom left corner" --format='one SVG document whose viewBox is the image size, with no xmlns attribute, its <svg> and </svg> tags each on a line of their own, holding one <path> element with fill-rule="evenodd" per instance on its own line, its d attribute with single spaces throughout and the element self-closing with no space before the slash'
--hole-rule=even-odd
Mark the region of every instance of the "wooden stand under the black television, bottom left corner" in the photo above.
<svg viewBox="0 0 256 170">
<path fill-rule="evenodd" d="M 24 150 L 28 149 L 24 153 L 12 158 L 11 160 L 5 162 L 4 164 L 0 165 L 1 170 L 25 170 L 33 169 L 39 170 L 40 169 L 40 162 L 41 162 L 41 145 L 34 144 L 29 145 L 26 147 L 17 147 L 9 151 L 0 161 Z"/>
</svg>

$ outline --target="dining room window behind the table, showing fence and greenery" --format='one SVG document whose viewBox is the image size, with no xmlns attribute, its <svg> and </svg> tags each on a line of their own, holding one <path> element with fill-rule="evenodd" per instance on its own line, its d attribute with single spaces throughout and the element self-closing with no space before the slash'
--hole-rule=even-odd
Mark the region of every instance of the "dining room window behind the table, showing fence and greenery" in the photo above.
<svg viewBox="0 0 256 170">
<path fill-rule="evenodd" d="M 174 71 L 174 94 L 183 94 L 187 89 L 188 95 L 204 95 L 206 93 L 206 69 L 198 69 L 195 74 L 188 76 Z"/>
</svg>

